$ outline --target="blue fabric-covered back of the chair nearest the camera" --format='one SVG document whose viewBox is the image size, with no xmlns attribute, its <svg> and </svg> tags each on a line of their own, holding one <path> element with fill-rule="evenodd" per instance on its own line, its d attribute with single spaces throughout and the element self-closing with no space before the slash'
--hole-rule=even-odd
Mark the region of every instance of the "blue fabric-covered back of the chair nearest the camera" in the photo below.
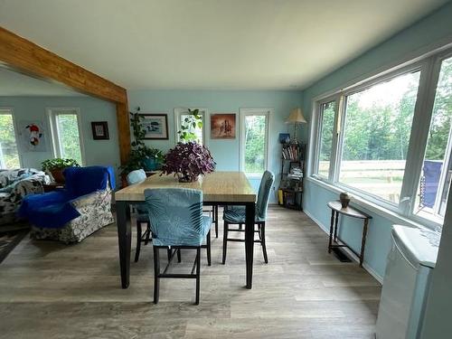
<svg viewBox="0 0 452 339">
<path fill-rule="evenodd" d="M 146 208 L 155 246 L 200 246 L 202 191 L 187 188 L 145 190 Z"/>
</svg>

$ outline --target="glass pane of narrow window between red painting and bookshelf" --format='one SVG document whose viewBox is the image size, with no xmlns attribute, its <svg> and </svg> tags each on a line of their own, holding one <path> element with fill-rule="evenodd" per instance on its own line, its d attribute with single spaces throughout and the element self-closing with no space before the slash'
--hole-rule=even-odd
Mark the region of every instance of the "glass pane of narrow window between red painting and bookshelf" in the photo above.
<svg viewBox="0 0 452 339">
<path fill-rule="evenodd" d="M 265 171 L 266 116 L 245 116 L 245 172 Z"/>
</svg>

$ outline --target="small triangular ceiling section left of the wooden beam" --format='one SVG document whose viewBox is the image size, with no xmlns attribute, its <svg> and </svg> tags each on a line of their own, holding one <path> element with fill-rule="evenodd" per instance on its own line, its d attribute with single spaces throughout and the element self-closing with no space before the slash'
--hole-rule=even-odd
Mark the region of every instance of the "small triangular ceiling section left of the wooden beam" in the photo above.
<svg viewBox="0 0 452 339">
<path fill-rule="evenodd" d="M 57 96 L 72 97 L 84 94 L 67 89 L 60 84 L 35 79 L 0 67 L 0 97 Z"/>
</svg>

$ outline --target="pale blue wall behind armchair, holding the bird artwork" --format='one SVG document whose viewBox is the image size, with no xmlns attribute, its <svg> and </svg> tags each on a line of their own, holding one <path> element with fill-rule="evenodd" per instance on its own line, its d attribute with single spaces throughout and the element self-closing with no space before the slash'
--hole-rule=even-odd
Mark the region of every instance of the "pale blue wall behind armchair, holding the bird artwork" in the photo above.
<svg viewBox="0 0 452 339">
<path fill-rule="evenodd" d="M 0 97 L 0 108 L 13 108 L 17 128 L 21 121 L 42 121 L 44 125 L 46 152 L 29 152 L 18 140 L 24 167 L 40 169 L 43 160 L 53 157 L 46 108 L 80 108 L 85 165 L 113 165 L 115 168 L 120 165 L 116 108 L 107 101 L 90 97 Z M 92 138 L 91 121 L 108 121 L 109 140 Z"/>
</svg>

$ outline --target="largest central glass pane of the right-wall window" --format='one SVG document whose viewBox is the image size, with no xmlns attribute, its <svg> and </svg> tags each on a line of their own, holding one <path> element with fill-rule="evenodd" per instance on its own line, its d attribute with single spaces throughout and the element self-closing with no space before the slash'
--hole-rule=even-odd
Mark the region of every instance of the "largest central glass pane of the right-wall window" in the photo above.
<svg viewBox="0 0 452 339">
<path fill-rule="evenodd" d="M 346 98 L 341 183 L 400 201 L 419 73 L 400 75 Z"/>
</svg>

